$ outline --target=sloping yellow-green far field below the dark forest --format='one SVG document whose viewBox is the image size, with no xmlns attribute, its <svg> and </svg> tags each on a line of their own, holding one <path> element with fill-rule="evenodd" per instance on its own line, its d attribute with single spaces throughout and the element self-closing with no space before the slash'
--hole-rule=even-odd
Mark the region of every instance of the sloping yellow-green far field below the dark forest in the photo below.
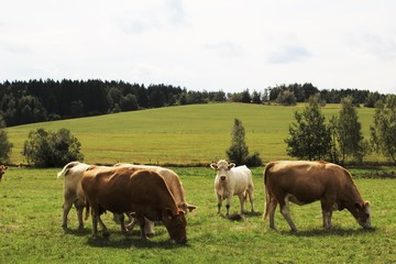
<svg viewBox="0 0 396 264">
<path fill-rule="evenodd" d="M 8 128 L 14 144 L 11 162 L 23 164 L 23 142 L 31 130 L 43 128 L 57 131 L 66 128 L 81 142 L 88 163 L 198 165 L 226 157 L 231 144 L 234 118 L 242 121 L 250 152 L 260 152 L 264 161 L 290 158 L 284 140 L 294 121 L 296 107 L 257 106 L 245 103 L 209 103 L 168 107 L 133 112 L 35 123 Z M 327 118 L 338 114 L 340 105 L 322 109 Z M 365 139 L 374 109 L 358 110 Z M 385 161 L 371 155 L 371 162 Z"/>
</svg>

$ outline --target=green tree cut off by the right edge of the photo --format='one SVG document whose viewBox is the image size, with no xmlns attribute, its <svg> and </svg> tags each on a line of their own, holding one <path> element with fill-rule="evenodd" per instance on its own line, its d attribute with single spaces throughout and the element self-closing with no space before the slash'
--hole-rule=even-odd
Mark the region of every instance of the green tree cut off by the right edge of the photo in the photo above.
<svg viewBox="0 0 396 264">
<path fill-rule="evenodd" d="M 377 103 L 373 125 L 370 125 L 371 142 L 377 153 L 383 153 L 396 163 L 396 96 L 388 95 Z"/>
</svg>

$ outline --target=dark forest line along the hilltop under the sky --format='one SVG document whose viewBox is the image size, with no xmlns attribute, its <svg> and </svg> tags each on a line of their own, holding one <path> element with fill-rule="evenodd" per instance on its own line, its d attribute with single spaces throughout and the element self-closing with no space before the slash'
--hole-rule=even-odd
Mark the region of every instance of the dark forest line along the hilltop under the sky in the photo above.
<svg viewBox="0 0 396 264">
<path fill-rule="evenodd" d="M 374 107 L 384 95 L 369 90 L 319 90 L 311 84 L 279 85 L 263 91 L 193 91 L 172 85 L 130 84 L 122 80 L 33 79 L 0 84 L 0 116 L 7 127 L 81 118 L 148 108 L 208 102 L 295 105 L 319 95 L 326 102 L 340 102 L 352 96 L 354 103 Z"/>
</svg>

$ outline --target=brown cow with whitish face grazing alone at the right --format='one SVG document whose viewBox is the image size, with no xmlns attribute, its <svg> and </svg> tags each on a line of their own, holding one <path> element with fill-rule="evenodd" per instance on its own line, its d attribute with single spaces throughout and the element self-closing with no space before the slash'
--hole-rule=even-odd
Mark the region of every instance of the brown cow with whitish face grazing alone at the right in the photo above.
<svg viewBox="0 0 396 264">
<path fill-rule="evenodd" d="M 348 209 L 364 229 L 371 228 L 370 202 L 364 201 L 343 167 L 327 162 L 278 161 L 264 169 L 266 193 L 265 213 L 270 215 L 270 228 L 275 229 L 277 204 L 292 231 L 297 231 L 289 213 L 289 201 L 307 205 L 320 200 L 322 226 L 331 229 L 333 210 Z"/>
</svg>

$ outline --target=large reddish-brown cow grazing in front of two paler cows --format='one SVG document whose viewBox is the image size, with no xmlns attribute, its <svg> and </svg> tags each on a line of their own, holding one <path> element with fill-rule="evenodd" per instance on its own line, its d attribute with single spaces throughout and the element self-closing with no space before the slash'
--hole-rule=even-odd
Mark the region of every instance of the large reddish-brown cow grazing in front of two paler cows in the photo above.
<svg viewBox="0 0 396 264">
<path fill-rule="evenodd" d="M 141 239 L 147 237 L 144 231 L 144 218 L 161 220 L 172 240 L 186 243 L 185 213 L 170 194 L 164 178 L 155 172 L 131 167 L 91 167 L 82 173 L 80 199 L 86 198 L 92 208 L 92 234 L 98 235 L 98 222 L 103 237 L 109 232 L 100 219 L 105 210 L 113 213 L 134 212 L 141 227 Z"/>
</svg>

